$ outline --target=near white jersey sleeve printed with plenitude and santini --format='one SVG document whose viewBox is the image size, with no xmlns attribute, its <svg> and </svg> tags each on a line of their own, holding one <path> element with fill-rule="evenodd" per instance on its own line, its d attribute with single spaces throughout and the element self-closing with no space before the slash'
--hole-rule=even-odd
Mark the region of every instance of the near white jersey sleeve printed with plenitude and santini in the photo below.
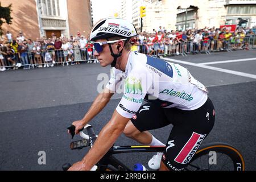
<svg viewBox="0 0 256 182">
<path fill-rule="evenodd" d="M 137 69 L 129 73 L 124 84 L 124 94 L 116 110 L 125 118 L 131 118 L 141 107 L 148 89 L 152 85 L 151 75 Z M 139 74 L 138 74 L 139 73 Z"/>
</svg>

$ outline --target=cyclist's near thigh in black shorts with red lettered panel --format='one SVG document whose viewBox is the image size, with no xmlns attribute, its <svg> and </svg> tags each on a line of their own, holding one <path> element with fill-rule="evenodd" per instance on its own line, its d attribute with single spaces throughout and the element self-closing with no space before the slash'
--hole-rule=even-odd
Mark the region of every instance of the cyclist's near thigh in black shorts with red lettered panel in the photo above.
<svg viewBox="0 0 256 182">
<path fill-rule="evenodd" d="M 215 111 L 208 99 L 199 109 L 172 109 L 170 115 L 174 119 L 174 127 L 162 161 L 170 170 L 180 170 L 187 167 L 200 144 L 212 130 Z"/>
</svg>

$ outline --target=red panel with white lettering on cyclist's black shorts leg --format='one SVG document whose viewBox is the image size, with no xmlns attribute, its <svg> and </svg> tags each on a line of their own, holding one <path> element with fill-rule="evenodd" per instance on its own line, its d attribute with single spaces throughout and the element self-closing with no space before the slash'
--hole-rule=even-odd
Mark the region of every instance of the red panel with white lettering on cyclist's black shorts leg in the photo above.
<svg viewBox="0 0 256 182">
<path fill-rule="evenodd" d="M 185 146 L 181 149 L 179 154 L 174 159 L 175 162 L 180 164 L 187 164 L 192 159 L 193 155 L 196 154 L 197 149 L 200 147 L 200 144 L 203 142 L 206 135 L 201 135 L 193 132 L 191 137 Z"/>
</svg>

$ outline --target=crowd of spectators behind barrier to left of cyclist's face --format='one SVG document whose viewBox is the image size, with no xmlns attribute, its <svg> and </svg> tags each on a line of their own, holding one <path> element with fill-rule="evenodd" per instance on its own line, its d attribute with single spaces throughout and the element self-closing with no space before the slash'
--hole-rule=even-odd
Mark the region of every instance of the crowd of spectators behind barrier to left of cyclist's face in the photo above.
<svg viewBox="0 0 256 182">
<path fill-rule="evenodd" d="M 57 37 L 52 34 L 36 38 L 26 39 L 20 31 L 16 38 L 11 32 L 6 32 L 6 39 L 0 40 L 0 71 L 6 69 L 23 69 L 53 67 L 54 65 L 74 65 L 80 62 L 98 63 L 93 60 L 93 44 L 87 38 L 77 32 L 76 36 Z M 84 60 L 84 61 L 83 61 Z"/>
</svg>

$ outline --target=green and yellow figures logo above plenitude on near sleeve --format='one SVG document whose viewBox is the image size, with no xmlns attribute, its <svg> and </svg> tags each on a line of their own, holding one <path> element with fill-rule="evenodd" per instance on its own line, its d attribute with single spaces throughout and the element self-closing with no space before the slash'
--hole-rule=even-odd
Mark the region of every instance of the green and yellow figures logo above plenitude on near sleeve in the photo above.
<svg viewBox="0 0 256 182">
<path fill-rule="evenodd" d="M 136 77 L 127 77 L 125 80 L 125 93 L 142 95 L 141 80 Z"/>
</svg>

